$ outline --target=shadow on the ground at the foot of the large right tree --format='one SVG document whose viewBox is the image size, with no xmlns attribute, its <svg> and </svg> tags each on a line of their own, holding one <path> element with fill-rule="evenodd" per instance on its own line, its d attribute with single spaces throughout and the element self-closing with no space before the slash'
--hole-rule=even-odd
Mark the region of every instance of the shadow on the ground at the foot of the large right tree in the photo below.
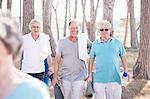
<svg viewBox="0 0 150 99">
<path fill-rule="evenodd" d="M 121 99 L 133 99 L 146 85 L 145 79 L 133 79 L 127 86 L 122 87 Z"/>
</svg>

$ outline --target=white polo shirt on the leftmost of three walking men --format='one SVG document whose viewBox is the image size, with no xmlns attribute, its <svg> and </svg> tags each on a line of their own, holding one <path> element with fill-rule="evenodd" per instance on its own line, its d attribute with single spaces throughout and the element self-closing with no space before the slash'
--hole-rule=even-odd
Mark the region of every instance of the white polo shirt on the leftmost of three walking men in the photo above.
<svg viewBox="0 0 150 99">
<path fill-rule="evenodd" d="M 23 36 L 22 71 L 25 73 L 40 73 L 45 71 L 44 59 L 51 54 L 49 36 L 40 33 L 35 41 L 31 33 Z"/>
</svg>

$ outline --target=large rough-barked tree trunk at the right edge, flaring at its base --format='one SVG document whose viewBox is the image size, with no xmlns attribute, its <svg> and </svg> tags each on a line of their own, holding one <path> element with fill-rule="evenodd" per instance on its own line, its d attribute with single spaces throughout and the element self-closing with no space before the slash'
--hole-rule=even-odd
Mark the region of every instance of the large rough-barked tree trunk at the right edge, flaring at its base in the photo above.
<svg viewBox="0 0 150 99">
<path fill-rule="evenodd" d="M 150 79 L 150 1 L 141 0 L 140 49 L 134 78 Z"/>
</svg>

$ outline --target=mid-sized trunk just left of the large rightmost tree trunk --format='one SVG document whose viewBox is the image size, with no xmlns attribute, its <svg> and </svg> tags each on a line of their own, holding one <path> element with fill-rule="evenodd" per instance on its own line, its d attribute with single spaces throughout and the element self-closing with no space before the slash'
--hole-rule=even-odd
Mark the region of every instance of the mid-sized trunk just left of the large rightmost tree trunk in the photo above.
<svg viewBox="0 0 150 99">
<path fill-rule="evenodd" d="M 135 29 L 135 18 L 134 18 L 134 0 L 129 0 L 130 5 L 130 29 L 131 29 L 131 48 L 138 48 L 138 39 L 137 33 Z"/>
</svg>

